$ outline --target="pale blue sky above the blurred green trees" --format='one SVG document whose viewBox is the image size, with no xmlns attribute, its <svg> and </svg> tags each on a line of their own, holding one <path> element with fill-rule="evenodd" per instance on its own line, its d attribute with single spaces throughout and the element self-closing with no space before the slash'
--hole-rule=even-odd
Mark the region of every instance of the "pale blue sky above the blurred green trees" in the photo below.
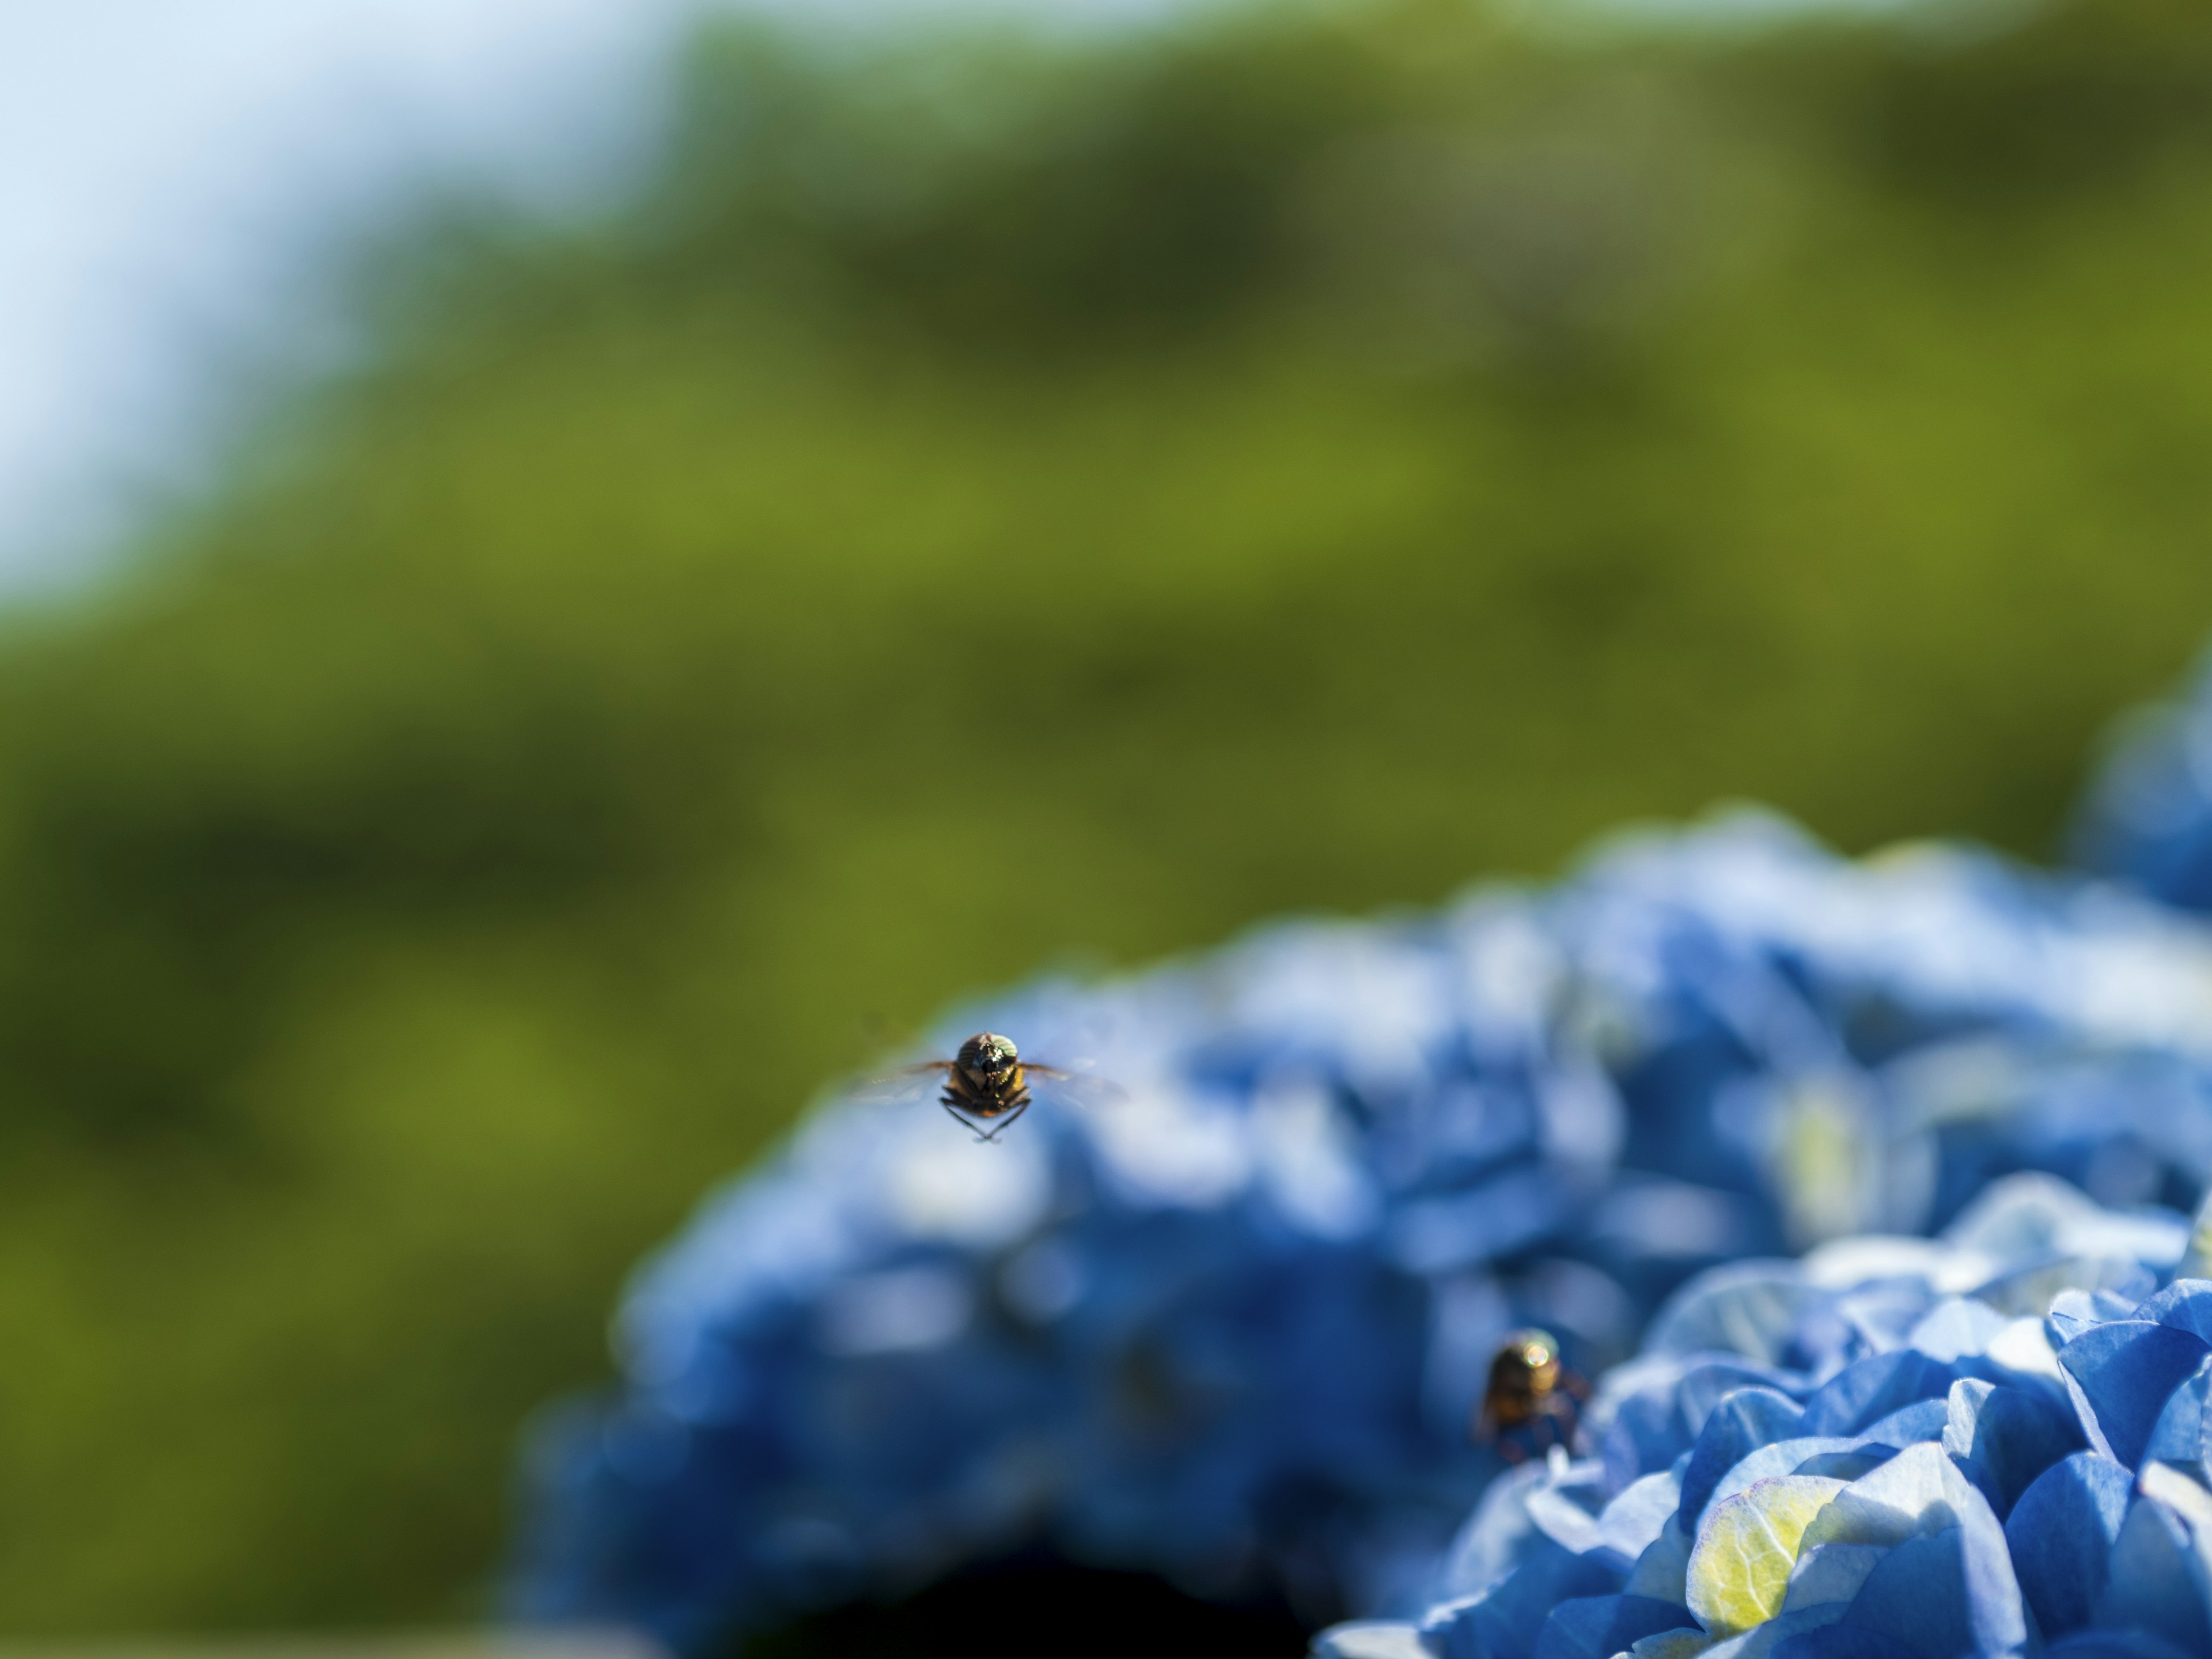
<svg viewBox="0 0 2212 1659">
<path fill-rule="evenodd" d="M 0 588 L 84 568 L 221 449 L 252 363 L 343 349 L 314 257 L 453 170 L 560 206 L 739 0 L 0 0 Z M 1659 0 L 1790 4 L 1790 0 Z M 1179 0 L 750 0 L 810 22 Z"/>
</svg>

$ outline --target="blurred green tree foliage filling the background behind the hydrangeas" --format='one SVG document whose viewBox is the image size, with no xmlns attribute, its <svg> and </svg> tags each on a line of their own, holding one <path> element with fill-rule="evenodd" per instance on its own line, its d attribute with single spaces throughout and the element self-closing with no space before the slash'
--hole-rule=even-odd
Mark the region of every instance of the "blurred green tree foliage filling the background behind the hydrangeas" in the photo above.
<svg viewBox="0 0 2212 1659">
<path fill-rule="evenodd" d="M 2212 13 L 1969 24 L 737 29 L 420 230 L 0 650 L 0 1621 L 480 1610 L 872 1020 L 1717 796 L 2046 854 L 2212 619 Z"/>
</svg>

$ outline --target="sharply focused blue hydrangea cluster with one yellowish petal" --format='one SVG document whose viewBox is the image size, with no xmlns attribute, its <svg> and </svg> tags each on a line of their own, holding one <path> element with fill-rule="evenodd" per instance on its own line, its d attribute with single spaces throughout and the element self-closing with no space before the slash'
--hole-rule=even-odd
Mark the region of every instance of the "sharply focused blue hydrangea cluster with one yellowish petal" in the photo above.
<svg viewBox="0 0 2212 1659">
<path fill-rule="evenodd" d="M 1717 1270 L 1606 1378 L 1588 1458 L 1491 1486 L 1425 1619 L 1316 1652 L 2212 1652 L 2212 1281 L 2172 1276 L 2205 1243 L 2011 1177 L 1940 1241 Z"/>
</svg>

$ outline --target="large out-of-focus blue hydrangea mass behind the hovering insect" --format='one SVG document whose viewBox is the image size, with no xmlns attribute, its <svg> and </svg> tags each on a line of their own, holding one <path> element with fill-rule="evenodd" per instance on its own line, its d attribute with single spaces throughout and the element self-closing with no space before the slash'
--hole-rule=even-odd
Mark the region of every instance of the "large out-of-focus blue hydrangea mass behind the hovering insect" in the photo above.
<svg viewBox="0 0 2212 1659">
<path fill-rule="evenodd" d="M 1500 1471 L 1469 1420 L 1506 1329 L 1595 1374 L 1712 1263 L 1924 1232 L 2015 1170 L 2110 1206 L 2212 1179 L 2212 936 L 1770 818 L 1035 984 L 938 1051 L 975 1029 L 1128 1099 L 987 1146 L 818 1108 L 639 1274 L 622 1398 L 535 1438 L 524 1615 L 697 1650 L 1037 1542 L 1411 1610 Z M 1790 1378 L 1829 1358 L 1759 1380 L 1812 1409 Z"/>
</svg>

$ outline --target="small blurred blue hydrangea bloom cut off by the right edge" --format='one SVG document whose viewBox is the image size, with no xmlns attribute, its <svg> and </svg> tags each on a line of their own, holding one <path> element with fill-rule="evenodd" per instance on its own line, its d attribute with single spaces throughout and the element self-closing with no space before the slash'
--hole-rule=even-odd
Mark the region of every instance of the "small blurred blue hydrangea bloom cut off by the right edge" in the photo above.
<svg viewBox="0 0 2212 1659">
<path fill-rule="evenodd" d="M 2212 659 L 2181 699 L 2130 717 L 2073 841 L 2084 869 L 2212 909 Z"/>
</svg>

